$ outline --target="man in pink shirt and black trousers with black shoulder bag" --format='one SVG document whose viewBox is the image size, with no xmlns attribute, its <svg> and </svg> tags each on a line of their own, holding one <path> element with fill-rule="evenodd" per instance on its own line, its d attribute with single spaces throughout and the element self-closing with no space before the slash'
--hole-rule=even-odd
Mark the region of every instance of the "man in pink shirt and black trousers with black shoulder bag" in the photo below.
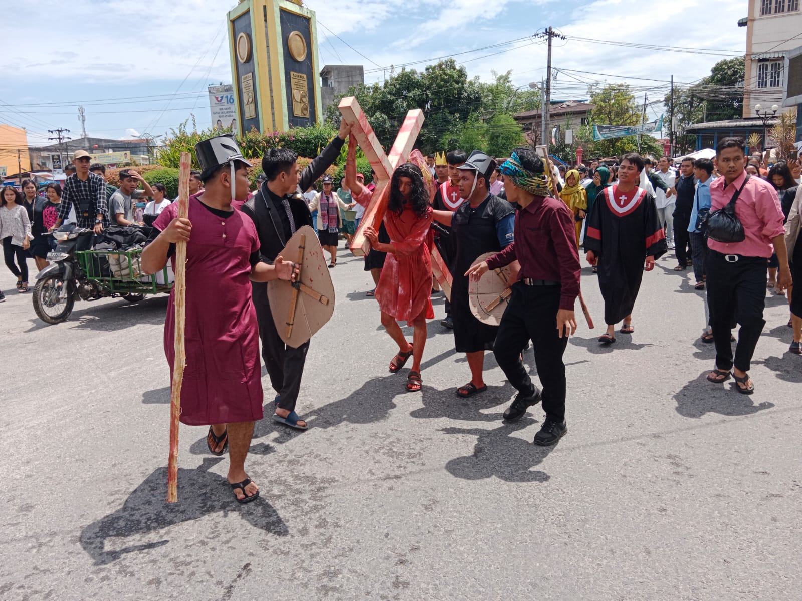
<svg viewBox="0 0 802 601">
<path fill-rule="evenodd" d="M 778 284 L 791 286 L 788 252 L 785 248 L 783 210 L 771 184 L 744 171 L 746 166 L 743 138 L 724 138 L 716 147 L 716 159 L 722 177 L 710 185 L 711 212 L 728 204 L 738 192 L 735 216 L 743 225 L 743 242 L 723 243 L 707 239 L 707 302 L 715 342 L 715 369 L 707 375 L 711 382 L 732 376 L 738 392 L 755 391 L 749 364 L 763 331 L 766 303 L 768 258 L 777 253 L 780 261 Z M 730 345 L 731 322 L 741 325 L 735 361 Z"/>
</svg>

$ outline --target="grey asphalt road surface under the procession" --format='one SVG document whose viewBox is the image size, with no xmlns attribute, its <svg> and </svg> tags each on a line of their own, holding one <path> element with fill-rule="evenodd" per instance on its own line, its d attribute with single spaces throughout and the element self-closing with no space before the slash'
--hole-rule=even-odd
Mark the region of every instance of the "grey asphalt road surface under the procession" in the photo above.
<svg viewBox="0 0 802 601">
<path fill-rule="evenodd" d="M 614 348 L 597 344 L 583 270 L 599 325 L 580 320 L 569 342 L 569 434 L 544 449 L 540 407 L 500 421 L 513 391 L 492 357 L 488 392 L 455 396 L 468 367 L 442 297 L 423 391 L 404 393 L 369 274 L 341 251 L 298 407 L 310 430 L 257 424 L 261 498 L 245 506 L 187 426 L 179 502 L 164 501 L 166 296 L 82 301 L 47 326 L 2 269 L 0 598 L 800 599 L 802 361 L 785 299 L 767 297 L 743 396 L 704 381 L 702 300 L 673 266 L 645 275 Z"/>
</svg>

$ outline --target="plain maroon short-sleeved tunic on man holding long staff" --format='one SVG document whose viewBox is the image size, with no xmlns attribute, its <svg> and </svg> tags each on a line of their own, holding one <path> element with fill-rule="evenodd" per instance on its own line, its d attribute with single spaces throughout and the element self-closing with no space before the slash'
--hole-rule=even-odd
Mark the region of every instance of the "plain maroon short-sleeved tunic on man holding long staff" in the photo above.
<svg viewBox="0 0 802 601">
<path fill-rule="evenodd" d="M 259 249 L 253 221 L 239 211 L 225 218 L 189 198 L 192 235 L 187 243 L 184 345 L 187 365 L 181 385 L 181 422 L 206 426 L 262 418 L 261 361 L 256 309 L 251 301 L 250 256 Z M 178 203 L 153 224 L 164 230 L 178 216 Z M 172 266 L 175 269 L 175 256 Z M 164 353 L 175 362 L 174 292 L 164 321 Z"/>
</svg>

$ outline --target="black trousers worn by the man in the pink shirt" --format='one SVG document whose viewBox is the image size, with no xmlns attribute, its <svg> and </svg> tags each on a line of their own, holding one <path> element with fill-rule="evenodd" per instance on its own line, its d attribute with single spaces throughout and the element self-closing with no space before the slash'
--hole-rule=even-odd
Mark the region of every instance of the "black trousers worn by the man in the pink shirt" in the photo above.
<svg viewBox="0 0 802 601">
<path fill-rule="evenodd" d="M 715 365 L 719 369 L 731 369 L 735 365 L 747 372 L 766 324 L 763 310 L 768 267 L 762 256 L 727 256 L 739 259 L 728 262 L 720 252 L 707 253 L 707 303 L 715 342 Z M 741 325 L 735 361 L 730 344 L 733 321 Z"/>
</svg>

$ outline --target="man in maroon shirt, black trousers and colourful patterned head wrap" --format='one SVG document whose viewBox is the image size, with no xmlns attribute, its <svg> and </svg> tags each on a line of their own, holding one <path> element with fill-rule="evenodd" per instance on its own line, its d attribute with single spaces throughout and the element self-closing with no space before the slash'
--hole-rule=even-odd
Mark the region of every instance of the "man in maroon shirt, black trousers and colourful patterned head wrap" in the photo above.
<svg viewBox="0 0 802 601">
<path fill-rule="evenodd" d="M 488 269 L 514 260 L 520 264 L 519 280 L 512 285 L 512 297 L 493 345 L 496 361 L 518 391 L 504 411 L 504 419 L 514 422 L 542 399 L 546 418 L 534 442 L 551 446 L 568 432 L 562 355 L 569 333 L 577 331 L 573 304 L 579 295 L 581 266 L 573 213 L 564 202 L 551 197 L 545 168 L 529 148 L 516 148 L 501 165 L 507 200 L 519 207 L 515 241 L 465 275 L 478 280 Z M 530 339 L 542 393 L 529 378 L 520 355 Z"/>
</svg>

